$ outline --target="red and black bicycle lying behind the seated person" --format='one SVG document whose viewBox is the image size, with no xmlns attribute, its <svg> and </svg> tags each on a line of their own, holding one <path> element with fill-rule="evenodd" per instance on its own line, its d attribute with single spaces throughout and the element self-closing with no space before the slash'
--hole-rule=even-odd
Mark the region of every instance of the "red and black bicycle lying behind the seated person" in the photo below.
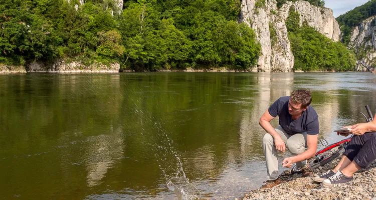
<svg viewBox="0 0 376 200">
<path fill-rule="evenodd" d="M 360 112 L 364 117 L 367 122 L 373 120 L 373 115 L 371 110 L 369 109 L 369 106 L 366 105 L 365 109 L 367 110 L 368 116 L 366 117 L 362 112 Z M 325 146 L 323 149 L 318 150 L 313 158 L 308 159 L 309 166 L 314 169 L 319 166 L 323 166 L 331 161 L 333 161 L 335 158 L 337 158 L 339 155 L 341 155 L 345 151 L 346 145 L 351 141 L 351 138 L 354 135 L 352 134 L 350 137 L 342 139 L 338 142 L 328 144 L 326 139 L 320 139 L 321 145 Z M 295 165 L 291 169 L 291 173 L 301 173 L 302 171 L 300 170 L 300 167 Z"/>
</svg>

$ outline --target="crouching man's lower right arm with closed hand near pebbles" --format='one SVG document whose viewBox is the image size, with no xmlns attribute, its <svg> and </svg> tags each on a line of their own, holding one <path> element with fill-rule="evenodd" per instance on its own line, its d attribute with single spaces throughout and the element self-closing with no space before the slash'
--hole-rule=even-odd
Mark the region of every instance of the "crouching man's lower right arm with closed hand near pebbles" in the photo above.
<svg viewBox="0 0 376 200">
<path fill-rule="evenodd" d="M 282 166 L 291 167 L 292 163 L 294 162 L 303 161 L 303 160 L 306 160 L 315 156 L 316 151 L 317 151 L 317 139 L 318 139 L 318 134 L 315 134 L 315 135 L 307 134 L 307 146 L 308 146 L 307 150 L 300 153 L 299 155 L 286 157 L 282 162 L 283 163 Z"/>
</svg>

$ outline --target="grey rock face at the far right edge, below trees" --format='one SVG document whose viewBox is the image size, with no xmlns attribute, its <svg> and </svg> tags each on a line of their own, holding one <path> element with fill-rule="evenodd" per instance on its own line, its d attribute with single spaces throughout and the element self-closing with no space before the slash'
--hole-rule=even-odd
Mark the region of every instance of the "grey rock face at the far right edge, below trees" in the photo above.
<svg viewBox="0 0 376 200">
<path fill-rule="evenodd" d="M 358 71 L 374 70 L 376 64 L 376 16 L 363 20 L 352 29 L 348 46 L 353 48 L 360 56 L 356 60 Z"/>
</svg>

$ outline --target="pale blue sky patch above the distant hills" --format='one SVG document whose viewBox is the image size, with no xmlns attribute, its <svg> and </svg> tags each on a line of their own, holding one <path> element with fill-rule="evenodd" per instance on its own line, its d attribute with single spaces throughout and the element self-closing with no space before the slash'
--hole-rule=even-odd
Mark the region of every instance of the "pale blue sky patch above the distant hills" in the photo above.
<svg viewBox="0 0 376 200">
<path fill-rule="evenodd" d="M 334 17 L 337 17 L 367 1 L 368 0 L 325 0 L 325 7 L 331 8 Z"/>
</svg>

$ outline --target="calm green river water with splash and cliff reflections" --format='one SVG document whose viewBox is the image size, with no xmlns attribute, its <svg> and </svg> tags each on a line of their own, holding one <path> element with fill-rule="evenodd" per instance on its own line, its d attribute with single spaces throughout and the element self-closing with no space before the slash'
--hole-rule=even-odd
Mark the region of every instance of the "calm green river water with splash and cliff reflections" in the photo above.
<svg viewBox="0 0 376 200">
<path fill-rule="evenodd" d="M 274 100 L 312 90 L 319 137 L 331 142 L 334 128 L 364 121 L 364 105 L 376 110 L 375 81 L 369 72 L 1 75 L 0 198 L 177 199 L 181 186 L 234 199 L 266 178 L 258 119 Z"/>
</svg>

